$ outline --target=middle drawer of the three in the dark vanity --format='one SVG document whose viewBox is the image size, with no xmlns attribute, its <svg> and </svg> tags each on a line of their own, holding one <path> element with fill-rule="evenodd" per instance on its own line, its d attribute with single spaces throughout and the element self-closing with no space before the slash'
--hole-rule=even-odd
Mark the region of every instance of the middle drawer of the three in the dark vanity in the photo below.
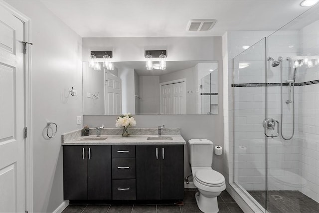
<svg viewBox="0 0 319 213">
<path fill-rule="evenodd" d="M 135 179 L 135 158 L 113 158 L 112 179 Z"/>
</svg>

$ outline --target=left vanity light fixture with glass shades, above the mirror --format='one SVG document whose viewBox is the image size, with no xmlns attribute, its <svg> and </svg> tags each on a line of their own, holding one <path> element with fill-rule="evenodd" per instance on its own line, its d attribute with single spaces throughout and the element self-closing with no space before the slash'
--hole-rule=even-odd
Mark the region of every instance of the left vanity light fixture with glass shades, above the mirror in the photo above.
<svg viewBox="0 0 319 213">
<path fill-rule="evenodd" d="M 103 61 L 103 67 L 107 70 L 114 70 L 114 64 L 112 61 L 112 51 L 91 51 L 91 60 L 90 67 L 94 70 L 101 70 L 101 64 L 98 58 L 101 58 Z"/>
</svg>

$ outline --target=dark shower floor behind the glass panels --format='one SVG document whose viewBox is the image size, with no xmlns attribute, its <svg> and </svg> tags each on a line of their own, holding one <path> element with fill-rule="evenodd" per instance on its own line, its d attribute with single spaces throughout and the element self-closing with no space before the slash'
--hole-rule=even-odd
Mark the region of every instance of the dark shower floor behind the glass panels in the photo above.
<svg viewBox="0 0 319 213">
<path fill-rule="evenodd" d="M 265 191 L 248 192 L 265 208 Z M 270 213 L 319 213 L 319 203 L 299 191 L 268 191 L 267 210 Z"/>
</svg>

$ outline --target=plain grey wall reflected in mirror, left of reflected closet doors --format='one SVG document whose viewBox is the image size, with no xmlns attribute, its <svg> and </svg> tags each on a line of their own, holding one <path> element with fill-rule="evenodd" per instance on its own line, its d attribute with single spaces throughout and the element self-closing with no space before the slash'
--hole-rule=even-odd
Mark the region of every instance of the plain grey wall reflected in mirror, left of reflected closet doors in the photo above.
<svg viewBox="0 0 319 213">
<path fill-rule="evenodd" d="M 160 76 L 140 76 L 139 93 L 141 113 L 160 113 Z"/>
</svg>

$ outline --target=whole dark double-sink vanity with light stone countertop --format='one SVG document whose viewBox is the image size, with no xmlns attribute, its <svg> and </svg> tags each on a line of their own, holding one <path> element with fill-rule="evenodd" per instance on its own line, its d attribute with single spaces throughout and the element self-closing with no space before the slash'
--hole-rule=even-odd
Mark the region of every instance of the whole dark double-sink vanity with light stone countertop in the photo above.
<svg viewBox="0 0 319 213">
<path fill-rule="evenodd" d="M 97 138 L 62 136 L 64 200 L 183 200 L 180 135 Z"/>
</svg>

